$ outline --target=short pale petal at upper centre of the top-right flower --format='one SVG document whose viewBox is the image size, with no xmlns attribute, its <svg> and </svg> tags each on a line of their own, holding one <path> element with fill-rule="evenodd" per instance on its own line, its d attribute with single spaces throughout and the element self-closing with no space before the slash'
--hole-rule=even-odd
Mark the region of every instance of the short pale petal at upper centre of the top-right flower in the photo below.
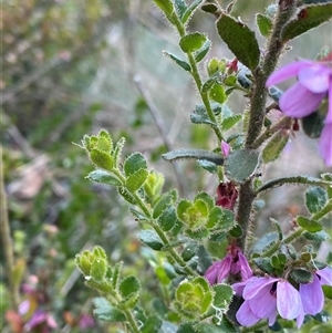
<svg viewBox="0 0 332 333">
<path fill-rule="evenodd" d="M 314 63 L 300 69 L 298 77 L 299 82 L 312 93 L 325 93 L 330 86 L 331 74 L 330 67 Z"/>
</svg>

